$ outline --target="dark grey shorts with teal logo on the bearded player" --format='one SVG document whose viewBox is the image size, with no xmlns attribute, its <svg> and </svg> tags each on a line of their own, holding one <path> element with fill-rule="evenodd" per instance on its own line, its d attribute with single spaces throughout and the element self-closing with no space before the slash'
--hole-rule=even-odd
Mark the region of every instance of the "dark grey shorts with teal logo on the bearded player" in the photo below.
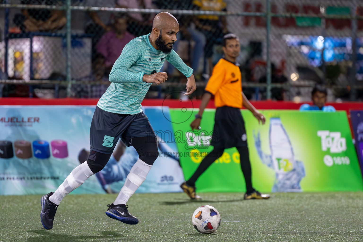
<svg viewBox="0 0 363 242">
<path fill-rule="evenodd" d="M 119 138 L 130 146 L 132 138 L 144 136 L 150 136 L 150 141 L 156 138 L 144 112 L 115 114 L 96 107 L 90 129 L 91 150 L 110 154 Z"/>
</svg>

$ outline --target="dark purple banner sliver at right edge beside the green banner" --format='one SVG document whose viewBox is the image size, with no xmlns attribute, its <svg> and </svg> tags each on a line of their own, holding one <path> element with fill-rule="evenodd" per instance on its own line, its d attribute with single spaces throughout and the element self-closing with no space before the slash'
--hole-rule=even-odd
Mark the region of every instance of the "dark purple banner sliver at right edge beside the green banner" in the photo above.
<svg viewBox="0 0 363 242">
<path fill-rule="evenodd" d="M 357 151 L 360 168 L 363 168 L 363 110 L 351 110 L 350 120 L 352 122 L 355 138 L 355 149 Z M 363 170 L 362 170 L 363 174 Z"/>
</svg>

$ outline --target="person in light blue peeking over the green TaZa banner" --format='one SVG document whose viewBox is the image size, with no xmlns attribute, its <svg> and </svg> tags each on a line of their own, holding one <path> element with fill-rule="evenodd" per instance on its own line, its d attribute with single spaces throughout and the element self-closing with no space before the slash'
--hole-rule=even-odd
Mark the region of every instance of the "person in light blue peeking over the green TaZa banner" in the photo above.
<svg viewBox="0 0 363 242">
<path fill-rule="evenodd" d="M 325 106 L 327 94 L 328 93 L 325 86 L 315 86 L 313 91 L 311 92 L 311 100 L 313 101 L 313 105 L 307 103 L 302 104 L 299 110 L 335 112 L 335 108 L 333 106 Z"/>
</svg>

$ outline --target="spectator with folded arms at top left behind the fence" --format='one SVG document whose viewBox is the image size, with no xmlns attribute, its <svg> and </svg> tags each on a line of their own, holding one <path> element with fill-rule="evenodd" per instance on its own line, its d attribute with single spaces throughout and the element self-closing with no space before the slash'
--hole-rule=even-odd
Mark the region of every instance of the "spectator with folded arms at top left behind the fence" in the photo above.
<svg viewBox="0 0 363 242">
<path fill-rule="evenodd" d="M 58 5 L 57 0 L 21 0 L 21 4 Z M 13 22 L 22 32 L 53 32 L 66 24 L 64 11 L 49 9 L 23 9 L 15 15 Z"/>
</svg>

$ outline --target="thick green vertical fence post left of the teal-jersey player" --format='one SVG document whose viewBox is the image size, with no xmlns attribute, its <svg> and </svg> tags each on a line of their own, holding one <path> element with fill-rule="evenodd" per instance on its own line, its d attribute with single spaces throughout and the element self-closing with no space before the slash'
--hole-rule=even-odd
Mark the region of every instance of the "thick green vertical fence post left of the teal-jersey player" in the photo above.
<svg viewBox="0 0 363 242">
<path fill-rule="evenodd" d="M 71 87 L 72 87 L 72 76 L 71 76 L 71 61 L 70 61 L 70 53 L 72 49 L 72 39 L 71 39 L 71 0 L 66 0 L 66 73 L 67 73 L 67 97 L 71 96 Z"/>
</svg>

